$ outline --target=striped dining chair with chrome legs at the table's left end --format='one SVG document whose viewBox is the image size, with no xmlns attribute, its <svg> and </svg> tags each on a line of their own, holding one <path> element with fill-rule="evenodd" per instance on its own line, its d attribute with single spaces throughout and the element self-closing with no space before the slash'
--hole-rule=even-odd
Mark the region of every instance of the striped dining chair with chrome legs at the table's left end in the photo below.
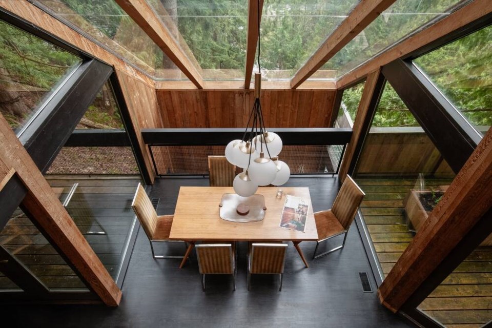
<svg viewBox="0 0 492 328">
<path fill-rule="evenodd" d="M 149 238 L 152 257 L 158 258 L 183 258 L 182 256 L 167 256 L 155 255 L 154 242 L 184 242 L 181 240 L 170 240 L 169 233 L 171 232 L 171 224 L 173 223 L 173 215 L 157 215 L 152 202 L 147 196 L 144 187 L 138 183 L 135 196 L 132 201 L 132 208 L 137 215 L 145 234 Z"/>
</svg>

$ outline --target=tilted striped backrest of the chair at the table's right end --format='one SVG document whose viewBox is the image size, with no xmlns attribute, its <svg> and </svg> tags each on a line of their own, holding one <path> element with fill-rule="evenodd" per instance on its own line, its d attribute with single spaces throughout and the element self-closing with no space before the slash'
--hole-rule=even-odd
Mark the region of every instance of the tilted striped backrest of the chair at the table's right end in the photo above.
<svg viewBox="0 0 492 328">
<path fill-rule="evenodd" d="M 364 195 L 357 183 L 347 175 L 332 206 L 333 214 L 345 230 L 352 224 Z"/>
</svg>

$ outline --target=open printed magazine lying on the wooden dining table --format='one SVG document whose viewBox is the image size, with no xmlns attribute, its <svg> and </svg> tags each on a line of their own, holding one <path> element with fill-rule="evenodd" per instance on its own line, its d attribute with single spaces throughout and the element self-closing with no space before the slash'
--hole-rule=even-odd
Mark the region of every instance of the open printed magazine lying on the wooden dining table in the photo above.
<svg viewBox="0 0 492 328">
<path fill-rule="evenodd" d="M 308 200 L 292 195 L 286 195 L 282 216 L 280 218 L 280 227 L 305 232 L 308 210 Z"/>
</svg>

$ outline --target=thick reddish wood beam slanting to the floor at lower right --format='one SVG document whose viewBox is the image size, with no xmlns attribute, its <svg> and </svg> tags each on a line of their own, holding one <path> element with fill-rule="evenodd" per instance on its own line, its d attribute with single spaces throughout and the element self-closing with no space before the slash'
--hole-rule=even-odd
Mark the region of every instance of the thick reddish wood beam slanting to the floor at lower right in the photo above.
<svg viewBox="0 0 492 328">
<path fill-rule="evenodd" d="M 396 312 L 492 206 L 489 130 L 381 284 L 381 302 Z M 483 218 L 482 218 L 483 217 Z"/>
</svg>

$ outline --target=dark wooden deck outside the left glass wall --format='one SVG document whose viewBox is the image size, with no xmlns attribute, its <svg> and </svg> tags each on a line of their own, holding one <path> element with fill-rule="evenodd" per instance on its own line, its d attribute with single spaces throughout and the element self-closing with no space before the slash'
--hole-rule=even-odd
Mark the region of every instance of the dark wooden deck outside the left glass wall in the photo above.
<svg viewBox="0 0 492 328">
<path fill-rule="evenodd" d="M 79 183 L 67 211 L 109 273 L 115 278 L 135 215 L 131 201 L 138 176 L 47 175 L 63 201 Z M 56 189 L 58 188 L 58 189 Z M 61 190 L 60 188 L 63 188 Z M 49 244 L 26 215 L 17 209 L 0 232 L 0 244 L 27 266 L 49 289 L 85 289 L 85 284 Z M 0 274 L 0 289 L 15 285 Z"/>
</svg>

